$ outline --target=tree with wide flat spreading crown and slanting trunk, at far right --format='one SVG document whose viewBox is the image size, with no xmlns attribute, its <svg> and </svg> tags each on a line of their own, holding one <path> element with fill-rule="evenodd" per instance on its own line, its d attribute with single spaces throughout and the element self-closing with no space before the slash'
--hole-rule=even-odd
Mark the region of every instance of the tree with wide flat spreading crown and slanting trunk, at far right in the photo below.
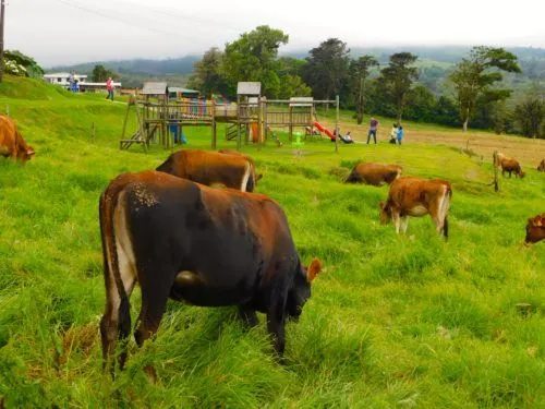
<svg viewBox="0 0 545 409">
<path fill-rule="evenodd" d="M 492 88 L 502 80 L 500 71 L 520 72 L 517 56 L 502 48 L 473 47 L 468 59 L 462 59 L 450 74 L 463 123 L 463 132 L 476 107 L 510 96 L 510 89 Z"/>
</svg>

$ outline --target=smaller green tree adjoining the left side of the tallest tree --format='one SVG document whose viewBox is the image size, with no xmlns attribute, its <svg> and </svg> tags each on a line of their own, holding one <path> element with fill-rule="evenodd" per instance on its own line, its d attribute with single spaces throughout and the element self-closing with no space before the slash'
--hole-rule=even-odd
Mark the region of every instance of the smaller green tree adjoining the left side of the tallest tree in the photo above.
<svg viewBox="0 0 545 409">
<path fill-rule="evenodd" d="M 225 55 L 216 47 L 210 48 L 201 61 L 195 62 L 195 71 L 190 77 L 187 86 L 201 91 L 204 95 L 213 93 L 232 94 L 234 89 L 229 88 L 227 81 L 221 75 L 221 64 Z"/>
</svg>

